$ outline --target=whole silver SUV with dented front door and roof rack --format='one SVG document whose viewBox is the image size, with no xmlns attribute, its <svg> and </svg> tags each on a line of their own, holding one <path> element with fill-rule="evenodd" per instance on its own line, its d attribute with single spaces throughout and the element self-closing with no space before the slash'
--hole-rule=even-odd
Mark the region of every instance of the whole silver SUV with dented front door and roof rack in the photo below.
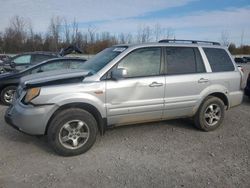
<svg viewBox="0 0 250 188">
<path fill-rule="evenodd" d="M 116 45 L 83 64 L 84 71 L 24 77 L 5 120 L 47 135 L 65 156 L 86 152 L 112 126 L 193 117 L 212 131 L 243 98 L 242 74 L 215 42 L 162 40 Z"/>
</svg>

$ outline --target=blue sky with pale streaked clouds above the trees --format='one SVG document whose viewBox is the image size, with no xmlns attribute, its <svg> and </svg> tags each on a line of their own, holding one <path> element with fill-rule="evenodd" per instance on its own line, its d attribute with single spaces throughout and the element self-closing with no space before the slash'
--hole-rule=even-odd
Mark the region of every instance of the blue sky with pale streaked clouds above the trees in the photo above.
<svg viewBox="0 0 250 188">
<path fill-rule="evenodd" d="M 250 0 L 0 0 L 0 31 L 15 15 L 45 32 L 51 17 L 76 19 L 81 30 L 90 25 L 113 34 L 136 33 L 139 25 L 160 24 L 178 39 L 220 40 L 250 44 Z"/>
</svg>

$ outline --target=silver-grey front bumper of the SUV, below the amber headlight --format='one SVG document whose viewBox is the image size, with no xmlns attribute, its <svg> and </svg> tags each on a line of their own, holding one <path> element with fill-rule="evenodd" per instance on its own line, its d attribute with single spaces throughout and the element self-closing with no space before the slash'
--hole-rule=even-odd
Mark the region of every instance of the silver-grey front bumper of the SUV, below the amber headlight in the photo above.
<svg viewBox="0 0 250 188">
<path fill-rule="evenodd" d="M 55 105 L 26 106 L 15 103 L 5 113 L 5 121 L 15 129 L 30 134 L 44 135 Z"/>
</svg>

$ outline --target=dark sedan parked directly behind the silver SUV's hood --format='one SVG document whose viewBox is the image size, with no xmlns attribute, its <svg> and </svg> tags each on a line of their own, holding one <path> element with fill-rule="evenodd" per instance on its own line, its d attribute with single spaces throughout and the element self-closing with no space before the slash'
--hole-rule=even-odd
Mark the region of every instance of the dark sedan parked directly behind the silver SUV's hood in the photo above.
<svg viewBox="0 0 250 188">
<path fill-rule="evenodd" d="M 15 70 L 0 74 L 1 102 L 5 105 L 11 104 L 19 80 L 23 76 L 61 69 L 81 69 L 85 61 L 86 59 L 82 58 L 56 58 L 44 61 L 21 71 Z"/>
</svg>

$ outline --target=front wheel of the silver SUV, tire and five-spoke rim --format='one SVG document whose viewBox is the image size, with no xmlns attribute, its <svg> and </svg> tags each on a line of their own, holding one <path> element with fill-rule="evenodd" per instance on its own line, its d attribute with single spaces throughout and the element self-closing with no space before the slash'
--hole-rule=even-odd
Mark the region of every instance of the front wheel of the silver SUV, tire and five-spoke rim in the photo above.
<svg viewBox="0 0 250 188">
<path fill-rule="evenodd" d="M 57 154 L 74 156 L 92 147 L 97 132 L 93 115 L 82 109 L 70 108 L 52 119 L 48 128 L 48 141 Z"/>
</svg>

